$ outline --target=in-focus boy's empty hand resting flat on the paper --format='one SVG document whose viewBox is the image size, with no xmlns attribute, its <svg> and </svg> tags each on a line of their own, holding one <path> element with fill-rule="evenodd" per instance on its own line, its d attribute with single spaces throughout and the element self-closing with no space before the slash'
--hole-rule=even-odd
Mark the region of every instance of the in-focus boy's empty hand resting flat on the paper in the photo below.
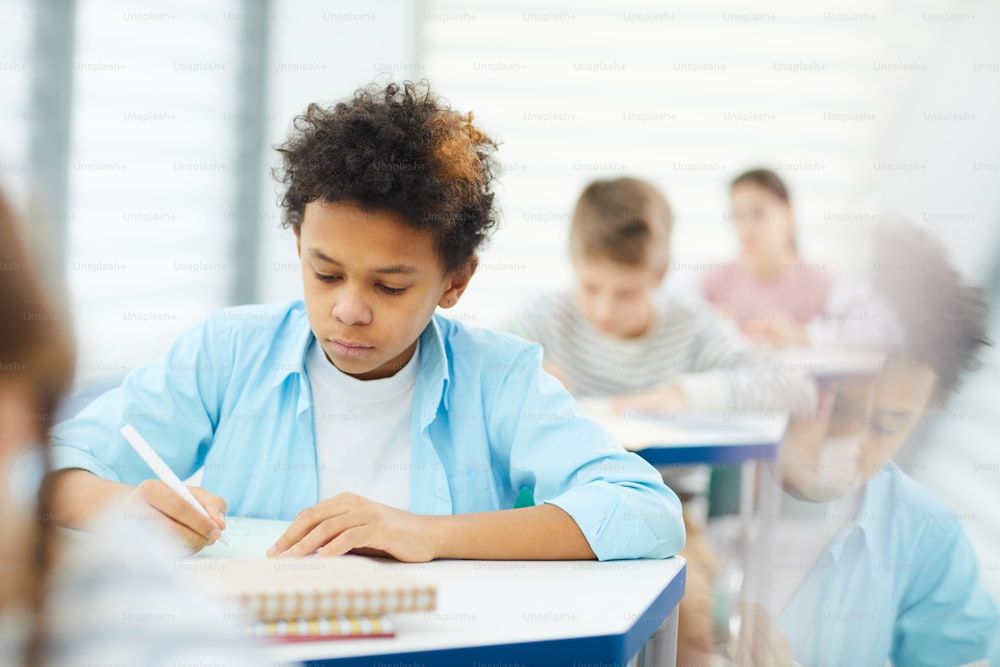
<svg viewBox="0 0 1000 667">
<path fill-rule="evenodd" d="M 299 512 L 267 555 L 340 556 L 354 551 L 423 563 L 434 559 L 435 550 L 429 517 L 341 493 Z"/>
</svg>

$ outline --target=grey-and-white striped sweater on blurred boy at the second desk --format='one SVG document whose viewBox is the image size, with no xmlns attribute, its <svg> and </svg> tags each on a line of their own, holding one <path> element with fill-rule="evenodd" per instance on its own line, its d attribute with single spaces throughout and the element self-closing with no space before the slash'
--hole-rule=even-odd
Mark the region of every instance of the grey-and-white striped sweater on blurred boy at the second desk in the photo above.
<svg viewBox="0 0 1000 667">
<path fill-rule="evenodd" d="M 526 304 L 507 328 L 540 343 L 546 362 L 580 398 L 677 383 L 692 410 L 812 412 L 813 383 L 779 370 L 707 306 L 657 294 L 653 310 L 654 322 L 642 337 L 609 338 L 583 316 L 572 290 L 565 290 Z"/>
</svg>

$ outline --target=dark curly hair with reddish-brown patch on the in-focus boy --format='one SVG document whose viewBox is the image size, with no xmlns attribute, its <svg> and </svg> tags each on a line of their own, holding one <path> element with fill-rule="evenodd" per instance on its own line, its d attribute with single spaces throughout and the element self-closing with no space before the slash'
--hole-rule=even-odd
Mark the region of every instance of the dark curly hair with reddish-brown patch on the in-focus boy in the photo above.
<svg viewBox="0 0 1000 667">
<path fill-rule="evenodd" d="M 333 107 L 310 104 L 277 146 L 287 186 L 283 227 L 306 204 L 352 202 L 400 215 L 434 233 L 445 271 L 466 263 L 497 225 L 492 184 L 497 144 L 453 111 L 426 81 L 370 84 Z"/>
</svg>

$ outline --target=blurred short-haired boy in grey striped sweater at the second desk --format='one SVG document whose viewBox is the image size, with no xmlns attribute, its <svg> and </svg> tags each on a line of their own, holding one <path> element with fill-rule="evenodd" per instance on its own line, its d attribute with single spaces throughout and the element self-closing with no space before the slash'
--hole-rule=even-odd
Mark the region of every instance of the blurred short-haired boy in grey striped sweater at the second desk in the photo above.
<svg viewBox="0 0 1000 667">
<path fill-rule="evenodd" d="M 670 231 L 670 206 L 651 184 L 589 184 L 570 223 L 575 288 L 533 299 L 510 330 L 540 343 L 549 372 L 578 397 L 612 397 L 621 410 L 810 413 L 811 383 L 776 371 L 710 309 L 659 291 L 670 265 Z M 707 467 L 665 469 L 664 478 L 686 503 L 705 502 Z M 694 656 L 713 646 L 716 558 L 702 536 L 703 519 L 687 520 L 687 512 L 685 519 L 679 664 L 695 664 Z"/>
</svg>

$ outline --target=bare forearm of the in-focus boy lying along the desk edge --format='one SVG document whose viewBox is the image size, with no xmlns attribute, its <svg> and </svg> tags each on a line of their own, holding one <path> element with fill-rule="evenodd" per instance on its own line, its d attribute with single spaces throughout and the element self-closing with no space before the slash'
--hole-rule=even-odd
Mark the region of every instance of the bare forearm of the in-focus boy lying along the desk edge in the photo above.
<svg viewBox="0 0 1000 667">
<path fill-rule="evenodd" d="M 555 505 L 431 516 L 435 558 L 593 560 L 576 521 Z"/>
</svg>

